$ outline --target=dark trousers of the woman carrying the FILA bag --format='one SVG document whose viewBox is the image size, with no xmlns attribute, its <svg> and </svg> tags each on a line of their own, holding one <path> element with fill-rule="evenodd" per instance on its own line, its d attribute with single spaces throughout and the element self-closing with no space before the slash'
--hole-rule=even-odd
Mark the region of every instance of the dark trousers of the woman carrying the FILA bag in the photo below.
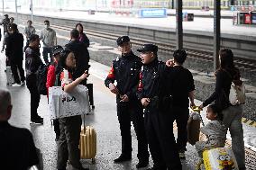
<svg viewBox="0 0 256 170">
<path fill-rule="evenodd" d="M 73 167 L 78 169 L 82 167 L 80 149 L 78 148 L 81 125 L 82 119 L 80 115 L 59 119 L 58 169 L 66 169 L 68 160 Z"/>
</svg>

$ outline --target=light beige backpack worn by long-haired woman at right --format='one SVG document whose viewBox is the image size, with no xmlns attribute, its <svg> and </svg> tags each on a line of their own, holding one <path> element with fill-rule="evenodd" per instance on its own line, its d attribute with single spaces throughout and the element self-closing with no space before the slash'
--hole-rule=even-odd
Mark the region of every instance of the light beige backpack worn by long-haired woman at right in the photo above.
<svg viewBox="0 0 256 170">
<path fill-rule="evenodd" d="M 229 102 L 232 105 L 244 104 L 245 103 L 245 86 L 235 85 L 233 82 L 230 87 Z"/>
</svg>

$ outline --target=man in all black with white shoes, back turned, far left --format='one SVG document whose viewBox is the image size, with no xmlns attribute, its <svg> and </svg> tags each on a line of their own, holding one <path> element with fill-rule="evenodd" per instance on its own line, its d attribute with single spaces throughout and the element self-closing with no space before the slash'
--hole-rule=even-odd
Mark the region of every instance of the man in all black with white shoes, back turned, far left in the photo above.
<svg viewBox="0 0 256 170">
<path fill-rule="evenodd" d="M 17 25 L 12 23 L 10 25 L 11 34 L 6 40 L 5 55 L 8 58 L 11 69 L 14 75 L 14 85 L 24 85 L 24 69 L 23 69 L 23 34 L 19 33 Z M 20 76 L 18 75 L 17 68 L 19 69 Z M 22 81 L 22 84 L 21 84 Z"/>
</svg>

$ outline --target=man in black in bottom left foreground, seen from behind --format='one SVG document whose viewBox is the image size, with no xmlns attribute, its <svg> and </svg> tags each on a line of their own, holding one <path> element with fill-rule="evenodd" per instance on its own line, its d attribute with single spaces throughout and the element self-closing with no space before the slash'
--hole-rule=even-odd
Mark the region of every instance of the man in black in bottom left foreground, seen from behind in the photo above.
<svg viewBox="0 0 256 170">
<path fill-rule="evenodd" d="M 39 164 L 29 130 L 8 123 L 12 114 L 11 94 L 0 88 L 0 169 L 27 170 Z"/>
</svg>

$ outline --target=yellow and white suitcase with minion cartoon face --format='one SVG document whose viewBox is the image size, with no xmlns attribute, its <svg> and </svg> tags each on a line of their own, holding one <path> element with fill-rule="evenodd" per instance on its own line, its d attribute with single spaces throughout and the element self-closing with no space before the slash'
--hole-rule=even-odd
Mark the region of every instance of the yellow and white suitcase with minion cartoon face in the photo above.
<svg viewBox="0 0 256 170">
<path fill-rule="evenodd" d="M 213 148 L 203 153 L 206 170 L 238 170 L 232 148 Z"/>
</svg>

